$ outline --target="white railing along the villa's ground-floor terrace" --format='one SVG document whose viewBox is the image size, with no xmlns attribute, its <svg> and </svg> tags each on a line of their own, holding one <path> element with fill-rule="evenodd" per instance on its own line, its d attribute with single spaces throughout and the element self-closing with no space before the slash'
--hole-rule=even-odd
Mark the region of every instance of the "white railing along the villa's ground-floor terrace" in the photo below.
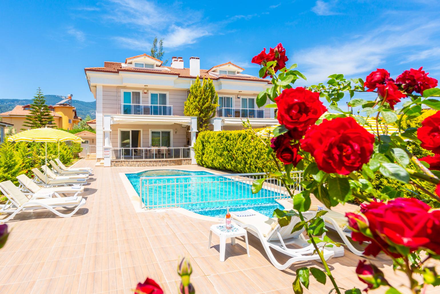
<svg viewBox="0 0 440 294">
<path fill-rule="evenodd" d="M 191 147 L 112 148 L 112 160 L 191 158 Z"/>
</svg>

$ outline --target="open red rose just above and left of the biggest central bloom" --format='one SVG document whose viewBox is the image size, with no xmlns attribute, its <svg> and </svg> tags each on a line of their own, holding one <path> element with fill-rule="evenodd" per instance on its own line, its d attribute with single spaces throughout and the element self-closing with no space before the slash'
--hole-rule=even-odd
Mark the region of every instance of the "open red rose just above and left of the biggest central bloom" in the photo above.
<svg viewBox="0 0 440 294">
<path fill-rule="evenodd" d="M 299 138 L 327 111 L 323 103 L 319 101 L 319 93 L 303 87 L 284 89 L 275 98 L 275 102 L 278 106 L 279 123 L 292 130 L 293 133 L 300 133 Z"/>
</svg>

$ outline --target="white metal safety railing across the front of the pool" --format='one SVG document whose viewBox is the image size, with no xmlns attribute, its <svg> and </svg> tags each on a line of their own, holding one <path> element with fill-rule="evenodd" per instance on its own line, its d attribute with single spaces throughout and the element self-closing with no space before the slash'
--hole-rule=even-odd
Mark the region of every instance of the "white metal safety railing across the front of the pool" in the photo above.
<svg viewBox="0 0 440 294">
<path fill-rule="evenodd" d="M 302 191 L 299 183 L 303 180 L 303 171 L 293 171 L 291 176 L 295 189 Z M 267 178 L 263 188 L 253 194 L 253 181 L 263 177 Z M 140 207 L 146 209 L 224 207 L 290 199 L 282 182 L 268 178 L 265 173 L 141 177 L 136 188 Z"/>
</svg>

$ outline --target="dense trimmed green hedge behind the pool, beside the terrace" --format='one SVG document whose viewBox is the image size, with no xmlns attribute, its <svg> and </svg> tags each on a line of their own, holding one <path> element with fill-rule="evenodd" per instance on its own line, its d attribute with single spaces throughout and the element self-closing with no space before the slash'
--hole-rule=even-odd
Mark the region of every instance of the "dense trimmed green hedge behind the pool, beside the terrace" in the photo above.
<svg viewBox="0 0 440 294">
<path fill-rule="evenodd" d="M 249 130 L 202 131 L 194 145 L 198 164 L 237 173 L 277 171 L 272 161 L 266 164 L 267 150 Z"/>
</svg>

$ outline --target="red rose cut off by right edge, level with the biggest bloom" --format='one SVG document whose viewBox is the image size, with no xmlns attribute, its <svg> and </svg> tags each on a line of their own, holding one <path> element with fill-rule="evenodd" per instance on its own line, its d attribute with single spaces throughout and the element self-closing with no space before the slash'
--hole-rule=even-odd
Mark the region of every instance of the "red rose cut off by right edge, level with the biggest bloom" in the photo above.
<svg viewBox="0 0 440 294">
<path fill-rule="evenodd" d="M 422 141 L 422 148 L 440 154 L 440 112 L 428 116 L 417 130 L 417 138 Z"/>
</svg>

